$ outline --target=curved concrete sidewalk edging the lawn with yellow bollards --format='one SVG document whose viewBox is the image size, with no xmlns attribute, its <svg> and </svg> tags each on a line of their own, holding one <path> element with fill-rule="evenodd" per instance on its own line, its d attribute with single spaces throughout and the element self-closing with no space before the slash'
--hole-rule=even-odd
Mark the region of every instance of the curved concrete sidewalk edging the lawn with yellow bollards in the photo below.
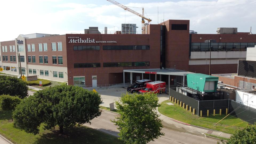
<svg viewBox="0 0 256 144">
<path fill-rule="evenodd" d="M 165 97 L 159 97 L 159 103 L 162 103 L 165 100 L 168 100 L 168 98 Z M 172 128 L 177 129 L 177 130 L 183 130 L 186 131 L 187 133 L 191 133 L 191 134 L 196 134 L 196 135 L 202 135 L 202 134 L 211 134 L 211 135 L 215 135 L 218 137 L 224 137 L 224 138 L 230 138 L 231 134 L 227 134 L 227 133 L 223 133 L 221 131 L 217 131 L 217 130 L 211 130 L 211 129 L 207 129 L 204 127 L 199 127 L 199 126 L 194 126 L 194 125 L 190 125 L 188 123 L 184 123 L 184 122 L 180 122 L 177 121 L 175 119 L 169 118 L 161 113 L 158 112 L 157 113 L 160 115 L 159 118 L 163 120 L 163 122 L 168 123 Z"/>
</svg>

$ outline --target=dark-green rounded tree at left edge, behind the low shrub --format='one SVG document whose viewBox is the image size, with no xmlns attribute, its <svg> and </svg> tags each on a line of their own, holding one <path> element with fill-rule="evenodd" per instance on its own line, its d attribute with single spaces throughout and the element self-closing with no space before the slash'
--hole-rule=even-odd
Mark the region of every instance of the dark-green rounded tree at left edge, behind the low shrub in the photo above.
<svg viewBox="0 0 256 144">
<path fill-rule="evenodd" d="M 0 95 L 17 95 L 19 98 L 25 98 L 28 95 L 27 89 L 27 85 L 22 79 L 0 75 Z"/>
</svg>

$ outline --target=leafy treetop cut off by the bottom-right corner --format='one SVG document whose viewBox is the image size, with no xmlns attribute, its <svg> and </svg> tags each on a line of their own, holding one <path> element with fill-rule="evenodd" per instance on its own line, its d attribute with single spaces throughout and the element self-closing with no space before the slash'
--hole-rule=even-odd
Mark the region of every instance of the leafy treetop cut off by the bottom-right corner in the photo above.
<svg viewBox="0 0 256 144">
<path fill-rule="evenodd" d="M 221 141 L 225 143 L 223 140 Z M 219 143 L 219 142 L 217 142 Z M 255 144 L 256 143 L 256 123 L 255 125 L 246 126 L 242 130 L 237 130 L 229 138 L 226 144 Z"/>
</svg>

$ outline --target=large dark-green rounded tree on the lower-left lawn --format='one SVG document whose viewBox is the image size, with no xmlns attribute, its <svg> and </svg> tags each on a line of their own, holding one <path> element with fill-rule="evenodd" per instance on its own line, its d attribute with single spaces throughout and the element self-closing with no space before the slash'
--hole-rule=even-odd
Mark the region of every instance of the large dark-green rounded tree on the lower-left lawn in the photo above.
<svg viewBox="0 0 256 144">
<path fill-rule="evenodd" d="M 14 125 L 27 133 L 38 134 L 39 126 L 59 132 L 64 128 L 90 123 L 101 115 L 99 105 L 102 100 L 98 93 L 77 86 L 60 85 L 37 91 L 25 98 L 13 112 Z"/>
</svg>

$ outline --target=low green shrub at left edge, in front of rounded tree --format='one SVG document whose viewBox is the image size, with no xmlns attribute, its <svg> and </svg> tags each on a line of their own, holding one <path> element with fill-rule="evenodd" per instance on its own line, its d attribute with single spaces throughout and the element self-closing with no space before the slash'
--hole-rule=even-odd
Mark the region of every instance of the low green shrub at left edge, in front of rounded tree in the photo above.
<svg viewBox="0 0 256 144">
<path fill-rule="evenodd" d="M 0 110 L 13 110 L 19 103 L 21 98 L 10 95 L 0 95 Z"/>
</svg>

